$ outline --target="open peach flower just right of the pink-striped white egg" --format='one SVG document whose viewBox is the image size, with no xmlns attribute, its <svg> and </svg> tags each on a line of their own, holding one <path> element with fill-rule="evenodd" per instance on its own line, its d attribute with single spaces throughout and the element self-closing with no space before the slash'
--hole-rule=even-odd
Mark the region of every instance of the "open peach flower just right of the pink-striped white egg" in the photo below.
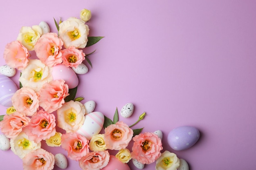
<svg viewBox="0 0 256 170">
<path fill-rule="evenodd" d="M 123 121 L 118 121 L 105 128 L 104 141 L 108 149 L 120 150 L 128 146 L 132 135 L 132 129 Z"/>
</svg>

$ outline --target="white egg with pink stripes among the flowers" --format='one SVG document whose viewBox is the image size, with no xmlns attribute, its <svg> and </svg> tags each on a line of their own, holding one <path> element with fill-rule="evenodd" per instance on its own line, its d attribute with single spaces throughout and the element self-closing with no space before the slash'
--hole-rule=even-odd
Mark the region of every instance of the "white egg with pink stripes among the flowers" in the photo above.
<svg viewBox="0 0 256 170">
<path fill-rule="evenodd" d="M 99 134 L 104 124 L 104 115 L 101 112 L 92 112 L 85 115 L 83 126 L 76 132 L 91 140 L 92 136 Z"/>
</svg>

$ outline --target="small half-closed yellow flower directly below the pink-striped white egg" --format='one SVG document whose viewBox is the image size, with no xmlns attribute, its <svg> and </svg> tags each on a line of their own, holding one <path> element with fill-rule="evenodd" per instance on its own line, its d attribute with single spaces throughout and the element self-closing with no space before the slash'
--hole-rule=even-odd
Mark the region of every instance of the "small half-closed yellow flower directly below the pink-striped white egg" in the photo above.
<svg viewBox="0 0 256 170">
<path fill-rule="evenodd" d="M 89 146 L 92 151 L 106 150 L 106 144 L 103 139 L 103 134 L 94 135 L 90 140 Z"/>
</svg>

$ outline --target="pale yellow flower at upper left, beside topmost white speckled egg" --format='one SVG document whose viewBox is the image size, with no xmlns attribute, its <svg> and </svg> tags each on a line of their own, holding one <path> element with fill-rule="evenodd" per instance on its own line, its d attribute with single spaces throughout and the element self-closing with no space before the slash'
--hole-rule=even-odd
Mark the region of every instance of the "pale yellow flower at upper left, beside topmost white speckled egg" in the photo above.
<svg viewBox="0 0 256 170">
<path fill-rule="evenodd" d="M 22 26 L 17 40 L 28 50 L 34 50 L 34 45 L 42 35 L 43 31 L 39 25 Z"/>
</svg>

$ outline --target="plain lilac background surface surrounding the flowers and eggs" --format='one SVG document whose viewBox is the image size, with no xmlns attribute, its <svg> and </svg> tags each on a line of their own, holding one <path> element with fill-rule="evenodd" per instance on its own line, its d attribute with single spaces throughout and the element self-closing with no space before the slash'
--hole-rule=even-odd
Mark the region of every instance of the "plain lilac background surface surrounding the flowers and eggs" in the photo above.
<svg viewBox="0 0 256 170">
<path fill-rule="evenodd" d="M 132 117 L 119 120 L 132 124 L 145 111 L 134 128 L 162 130 L 164 150 L 185 159 L 190 170 L 256 166 L 255 0 L 9 0 L 1 2 L 0 53 L 21 26 L 45 21 L 56 32 L 53 17 L 79 17 L 83 8 L 92 11 L 90 36 L 105 36 L 85 50 L 97 49 L 90 56 L 93 68 L 79 75 L 83 102 L 94 100 L 95 111 L 110 118 L 116 107 L 120 112 L 132 102 Z M 12 77 L 17 84 L 18 75 Z M 174 151 L 168 132 L 184 125 L 198 128 L 201 137 Z M 78 162 L 68 163 L 67 170 L 80 169 Z M 22 161 L 11 150 L 0 151 L 0 165 L 21 169 Z"/>
</svg>

